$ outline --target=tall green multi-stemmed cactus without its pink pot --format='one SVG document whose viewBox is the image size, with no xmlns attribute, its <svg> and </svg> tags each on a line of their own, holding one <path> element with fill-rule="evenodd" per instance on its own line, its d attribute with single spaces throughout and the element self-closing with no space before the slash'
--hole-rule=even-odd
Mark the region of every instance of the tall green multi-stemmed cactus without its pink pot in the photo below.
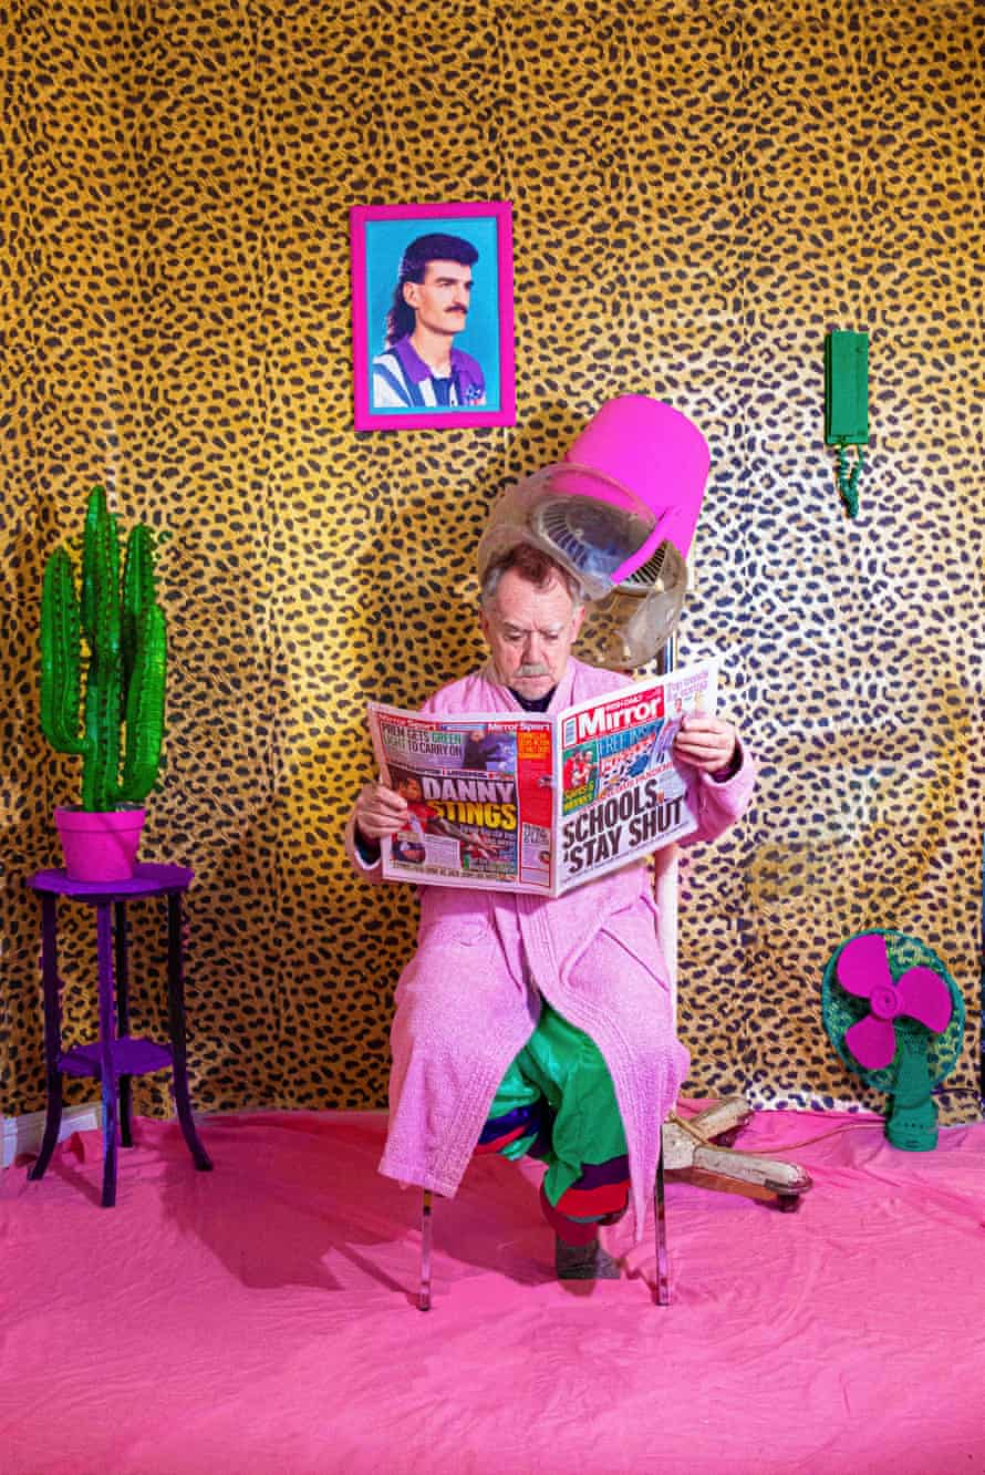
<svg viewBox="0 0 985 1475">
<path fill-rule="evenodd" d="M 103 488 L 93 487 L 81 599 L 65 547 L 49 558 L 41 590 L 41 727 L 58 752 L 81 754 L 83 810 L 142 804 L 150 794 L 164 738 L 165 680 L 167 624 L 155 596 L 153 532 L 143 525 L 131 530 L 121 589 L 116 518 Z"/>
</svg>

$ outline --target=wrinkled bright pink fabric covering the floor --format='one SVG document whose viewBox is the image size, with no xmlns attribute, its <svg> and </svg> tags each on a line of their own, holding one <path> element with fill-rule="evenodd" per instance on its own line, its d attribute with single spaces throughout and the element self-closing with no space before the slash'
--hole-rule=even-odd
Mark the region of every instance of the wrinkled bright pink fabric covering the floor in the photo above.
<svg viewBox="0 0 985 1475">
<path fill-rule="evenodd" d="M 650 1242 L 563 1286 L 538 1168 L 473 1162 L 435 1224 L 377 1177 L 377 1114 L 215 1117 L 196 1173 L 140 1121 L 0 1176 L 4 1475 L 950 1475 L 985 1471 L 985 1125 L 904 1153 L 877 1121 L 764 1114 L 814 1177 L 796 1214 L 668 1192 Z M 622 1226 L 609 1246 L 628 1249 Z"/>
</svg>

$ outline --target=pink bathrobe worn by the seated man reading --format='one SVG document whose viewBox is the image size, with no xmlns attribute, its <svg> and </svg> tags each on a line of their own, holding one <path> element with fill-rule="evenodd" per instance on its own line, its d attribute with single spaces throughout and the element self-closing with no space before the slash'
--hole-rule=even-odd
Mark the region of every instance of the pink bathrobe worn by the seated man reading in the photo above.
<svg viewBox="0 0 985 1475">
<path fill-rule="evenodd" d="M 571 659 L 550 711 L 628 677 Z M 521 711 L 492 670 L 466 676 L 422 708 L 441 717 Z M 697 830 L 714 839 L 742 814 L 753 768 L 725 783 L 690 770 Z M 347 850 L 370 881 L 354 845 Z M 417 951 L 397 985 L 389 1131 L 380 1173 L 451 1198 L 462 1181 L 507 1066 L 529 1040 L 541 999 L 594 1040 L 625 1127 L 637 1235 L 653 1190 L 661 1124 L 687 1074 L 674 1034 L 659 914 L 641 861 L 543 898 L 454 886 L 420 888 Z"/>
</svg>

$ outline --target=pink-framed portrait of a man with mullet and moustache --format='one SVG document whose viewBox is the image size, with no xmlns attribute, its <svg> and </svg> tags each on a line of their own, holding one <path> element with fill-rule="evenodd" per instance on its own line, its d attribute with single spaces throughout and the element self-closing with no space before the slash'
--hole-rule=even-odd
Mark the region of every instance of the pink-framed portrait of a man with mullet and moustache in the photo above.
<svg viewBox="0 0 985 1475">
<path fill-rule="evenodd" d="M 349 237 L 355 429 L 515 425 L 512 206 L 354 205 Z"/>
</svg>

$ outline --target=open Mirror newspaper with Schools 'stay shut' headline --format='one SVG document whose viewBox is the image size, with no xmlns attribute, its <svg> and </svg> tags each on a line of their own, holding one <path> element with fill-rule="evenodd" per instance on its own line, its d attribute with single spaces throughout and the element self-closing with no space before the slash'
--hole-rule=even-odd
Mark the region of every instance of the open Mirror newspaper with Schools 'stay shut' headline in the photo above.
<svg viewBox="0 0 985 1475">
<path fill-rule="evenodd" d="M 370 702 L 380 782 L 407 799 L 383 876 L 559 897 L 697 826 L 672 746 L 712 714 L 718 661 L 621 686 L 553 715 L 429 717 Z"/>
</svg>

